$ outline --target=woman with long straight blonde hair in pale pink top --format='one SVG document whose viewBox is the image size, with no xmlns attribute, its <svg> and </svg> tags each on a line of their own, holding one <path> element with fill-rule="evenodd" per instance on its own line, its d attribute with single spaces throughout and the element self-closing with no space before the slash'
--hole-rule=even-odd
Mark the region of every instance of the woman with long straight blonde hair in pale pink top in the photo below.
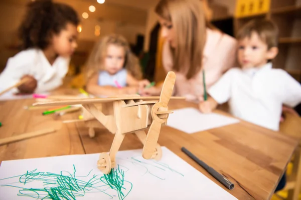
<svg viewBox="0 0 301 200">
<path fill-rule="evenodd" d="M 205 0 L 160 0 L 155 9 L 161 24 L 162 61 L 166 71 L 176 72 L 174 94 L 189 100 L 203 100 L 203 70 L 209 88 L 234 65 L 236 40 L 210 23 Z M 144 88 L 142 95 L 159 95 L 162 85 Z"/>
</svg>

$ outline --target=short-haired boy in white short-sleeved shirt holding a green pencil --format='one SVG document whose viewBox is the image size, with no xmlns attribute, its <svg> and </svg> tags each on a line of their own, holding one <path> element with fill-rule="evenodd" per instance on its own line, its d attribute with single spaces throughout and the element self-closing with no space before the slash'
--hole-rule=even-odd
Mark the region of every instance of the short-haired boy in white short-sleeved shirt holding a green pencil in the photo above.
<svg viewBox="0 0 301 200">
<path fill-rule="evenodd" d="M 301 102 L 301 85 L 282 69 L 272 68 L 277 55 L 278 29 L 269 20 L 252 20 L 238 33 L 241 68 L 228 70 L 199 108 L 208 113 L 229 100 L 231 113 L 251 123 L 279 130 L 282 104 Z"/>
</svg>

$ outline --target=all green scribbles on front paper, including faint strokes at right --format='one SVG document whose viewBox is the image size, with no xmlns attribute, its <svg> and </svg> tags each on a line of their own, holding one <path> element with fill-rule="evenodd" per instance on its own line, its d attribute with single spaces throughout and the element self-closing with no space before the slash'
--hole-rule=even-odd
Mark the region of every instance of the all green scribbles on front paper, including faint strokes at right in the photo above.
<svg viewBox="0 0 301 200">
<path fill-rule="evenodd" d="M 177 173 L 181 176 L 184 174 L 179 171 L 171 168 L 168 164 L 161 161 L 153 160 L 148 162 L 146 160 L 140 160 L 136 157 L 130 157 L 127 159 L 118 158 L 132 163 L 133 165 L 140 165 L 145 168 L 145 173 L 153 175 L 156 178 L 165 180 L 165 177 L 162 177 L 168 171 Z M 150 172 L 148 167 L 155 167 L 155 170 Z M 123 167 L 125 170 L 121 169 Z M 87 175 L 79 176 L 75 175 L 76 169 L 73 165 L 73 172 L 61 171 L 60 173 L 52 172 L 39 172 L 38 169 L 32 171 L 27 171 L 25 174 L 17 175 L 13 177 L 3 178 L 13 179 L 18 178 L 18 181 L 2 184 L 1 186 L 10 186 L 19 188 L 18 196 L 27 196 L 36 199 L 67 199 L 73 200 L 77 197 L 84 196 L 87 193 L 92 192 L 101 192 L 107 195 L 109 198 L 113 199 L 116 195 L 112 195 L 112 191 L 117 191 L 118 199 L 123 200 L 132 190 L 132 183 L 130 181 L 124 180 L 124 172 L 129 171 L 130 169 L 127 166 L 117 165 L 116 168 L 112 168 L 109 174 L 97 174 L 92 175 L 90 179 L 83 180 L 84 177 L 90 176 L 92 169 Z M 160 173 L 163 172 L 163 173 Z M 33 188 L 28 186 L 31 182 L 39 182 L 42 186 L 40 188 Z M 25 186 L 20 186 L 20 183 Z M 17 184 L 17 185 L 16 185 Z M 111 194 L 109 194 L 109 192 Z"/>
</svg>

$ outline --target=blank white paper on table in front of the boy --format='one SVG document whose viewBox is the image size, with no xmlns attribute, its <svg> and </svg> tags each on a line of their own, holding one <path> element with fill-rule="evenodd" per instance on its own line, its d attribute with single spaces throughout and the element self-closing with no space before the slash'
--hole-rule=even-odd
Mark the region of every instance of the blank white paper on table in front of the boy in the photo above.
<svg viewBox="0 0 301 200">
<path fill-rule="evenodd" d="M 193 107 L 176 109 L 167 119 L 168 126 L 186 133 L 195 133 L 238 122 L 236 118 L 216 113 L 204 114 Z"/>
</svg>

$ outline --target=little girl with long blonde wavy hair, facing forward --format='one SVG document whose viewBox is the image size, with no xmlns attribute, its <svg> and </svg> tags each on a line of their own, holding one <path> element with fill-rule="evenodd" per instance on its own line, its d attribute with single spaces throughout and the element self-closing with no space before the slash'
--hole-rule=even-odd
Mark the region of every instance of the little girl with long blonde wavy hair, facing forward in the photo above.
<svg viewBox="0 0 301 200">
<path fill-rule="evenodd" d="M 87 61 L 89 93 L 98 96 L 135 94 L 142 73 L 127 40 L 110 34 L 97 42 Z"/>
</svg>

